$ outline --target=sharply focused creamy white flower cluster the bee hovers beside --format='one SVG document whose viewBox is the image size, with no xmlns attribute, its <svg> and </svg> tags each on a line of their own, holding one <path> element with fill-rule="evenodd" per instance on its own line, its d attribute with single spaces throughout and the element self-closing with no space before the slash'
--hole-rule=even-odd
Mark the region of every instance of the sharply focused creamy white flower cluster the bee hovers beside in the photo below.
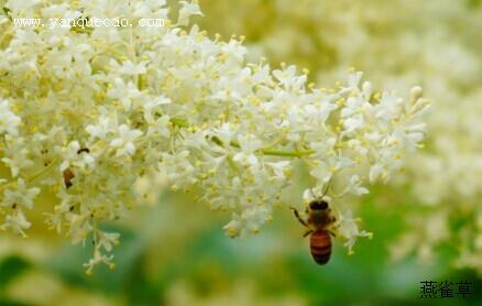
<svg viewBox="0 0 482 306">
<path fill-rule="evenodd" d="M 293 182 L 295 160 L 336 198 L 368 193 L 402 166 L 424 136 L 418 117 L 428 103 L 415 87 L 407 99 L 379 92 L 362 74 L 316 89 L 294 66 L 247 64 L 240 40 L 210 40 L 180 25 L 200 14 L 180 2 L 168 21 L 165 1 L 7 1 L 3 19 L 162 18 L 165 28 L 14 28 L 0 24 L 0 181 L 2 228 L 24 234 L 25 210 L 54 195 L 47 223 L 74 243 L 91 237 L 94 259 L 117 233 L 117 220 L 158 188 L 200 187 L 199 200 L 232 212 L 231 237 L 256 232 Z M 335 210 L 336 204 L 335 204 Z M 359 236 L 349 212 L 339 232 Z M 347 215 L 348 214 L 348 215 Z"/>
</svg>

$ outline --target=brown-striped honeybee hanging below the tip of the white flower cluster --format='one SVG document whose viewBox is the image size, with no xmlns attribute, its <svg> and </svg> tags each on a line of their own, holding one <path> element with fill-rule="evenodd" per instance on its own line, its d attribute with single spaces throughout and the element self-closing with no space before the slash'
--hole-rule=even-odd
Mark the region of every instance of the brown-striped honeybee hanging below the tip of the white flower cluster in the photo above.
<svg viewBox="0 0 482 306">
<path fill-rule="evenodd" d="M 328 201 L 322 197 L 315 198 L 306 207 L 306 215 L 308 218 L 305 220 L 299 216 L 296 208 L 293 209 L 296 219 L 307 228 L 307 231 L 303 237 L 309 238 L 309 249 L 313 259 L 318 264 L 326 264 L 331 256 L 331 236 L 335 233 L 331 231 L 337 218 L 331 215 L 331 209 Z"/>
</svg>

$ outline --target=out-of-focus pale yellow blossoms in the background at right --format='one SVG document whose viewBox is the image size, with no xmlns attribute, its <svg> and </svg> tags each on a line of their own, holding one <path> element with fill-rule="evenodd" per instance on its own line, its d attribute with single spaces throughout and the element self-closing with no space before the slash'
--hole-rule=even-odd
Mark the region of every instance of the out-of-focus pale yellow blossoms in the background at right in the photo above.
<svg viewBox="0 0 482 306">
<path fill-rule="evenodd" d="M 406 159 L 404 182 L 392 186 L 404 196 L 384 206 L 403 207 L 408 223 L 392 250 L 430 261 L 448 245 L 459 266 L 482 271 L 480 1 L 206 0 L 205 8 L 239 11 L 235 21 L 202 23 L 253 37 L 252 50 L 303 64 L 320 83 L 355 65 L 370 67 L 383 86 L 423 84 L 437 102 L 427 116 L 426 150 Z M 260 29 L 250 20 L 270 22 Z"/>
</svg>

